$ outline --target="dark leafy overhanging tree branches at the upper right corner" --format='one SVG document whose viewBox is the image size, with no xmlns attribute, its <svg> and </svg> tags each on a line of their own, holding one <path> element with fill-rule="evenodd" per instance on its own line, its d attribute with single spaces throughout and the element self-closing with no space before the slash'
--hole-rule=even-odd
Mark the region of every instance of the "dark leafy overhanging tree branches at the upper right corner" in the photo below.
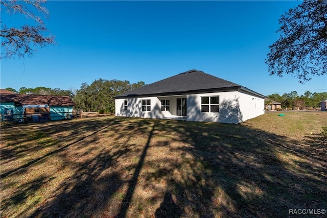
<svg viewBox="0 0 327 218">
<path fill-rule="evenodd" d="M 327 72 L 327 1 L 303 1 L 279 19 L 279 39 L 266 63 L 270 75 L 296 75 L 300 83 Z"/>
</svg>

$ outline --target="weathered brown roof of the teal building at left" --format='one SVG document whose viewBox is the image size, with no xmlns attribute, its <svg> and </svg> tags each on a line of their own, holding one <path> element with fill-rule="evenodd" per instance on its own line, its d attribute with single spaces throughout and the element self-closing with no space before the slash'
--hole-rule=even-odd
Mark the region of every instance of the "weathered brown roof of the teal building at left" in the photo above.
<svg viewBox="0 0 327 218">
<path fill-rule="evenodd" d="M 39 94 L 6 94 L 1 93 L 1 102 L 15 102 L 22 105 L 74 106 L 69 96 Z"/>
</svg>

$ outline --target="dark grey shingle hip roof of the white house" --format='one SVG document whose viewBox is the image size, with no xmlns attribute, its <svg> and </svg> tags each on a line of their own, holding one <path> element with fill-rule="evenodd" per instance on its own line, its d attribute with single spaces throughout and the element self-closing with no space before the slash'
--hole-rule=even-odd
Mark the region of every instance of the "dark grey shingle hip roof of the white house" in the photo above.
<svg viewBox="0 0 327 218">
<path fill-rule="evenodd" d="M 217 90 L 228 88 L 240 88 L 239 84 L 220 79 L 206 74 L 203 71 L 192 69 L 181 74 L 160 80 L 155 83 L 143 86 L 115 96 L 123 98 L 126 96 L 139 95 L 164 95 L 174 93 L 188 93 L 192 91 Z"/>
</svg>

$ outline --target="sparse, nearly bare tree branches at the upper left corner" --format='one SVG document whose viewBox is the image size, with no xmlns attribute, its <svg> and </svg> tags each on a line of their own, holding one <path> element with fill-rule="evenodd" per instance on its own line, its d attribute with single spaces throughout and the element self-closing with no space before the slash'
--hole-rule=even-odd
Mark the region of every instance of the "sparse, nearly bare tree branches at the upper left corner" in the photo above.
<svg viewBox="0 0 327 218">
<path fill-rule="evenodd" d="M 1 13 L 6 10 L 10 15 L 22 14 L 36 23 L 17 28 L 9 27 L 8 23 L 1 20 L 1 58 L 24 58 L 25 55 L 30 57 L 36 52 L 37 45 L 44 47 L 54 43 L 54 36 L 45 34 L 48 30 L 40 17 L 49 15 L 48 10 L 43 7 L 44 2 L 45 0 L 0 1 Z"/>
</svg>

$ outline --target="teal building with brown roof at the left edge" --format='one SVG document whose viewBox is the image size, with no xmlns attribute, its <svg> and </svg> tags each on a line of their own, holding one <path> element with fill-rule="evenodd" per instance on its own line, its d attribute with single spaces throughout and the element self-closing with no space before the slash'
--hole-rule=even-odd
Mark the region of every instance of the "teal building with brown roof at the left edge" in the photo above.
<svg viewBox="0 0 327 218">
<path fill-rule="evenodd" d="M 1 93 L 0 113 L 9 122 L 40 122 L 71 118 L 74 102 L 69 96 Z"/>
</svg>

